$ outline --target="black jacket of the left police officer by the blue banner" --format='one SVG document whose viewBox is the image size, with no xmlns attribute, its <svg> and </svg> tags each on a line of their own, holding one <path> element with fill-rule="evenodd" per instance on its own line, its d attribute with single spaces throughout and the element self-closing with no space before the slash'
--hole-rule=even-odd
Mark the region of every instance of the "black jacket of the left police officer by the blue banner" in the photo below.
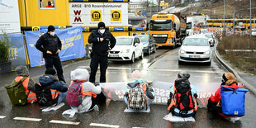
<svg viewBox="0 0 256 128">
<path fill-rule="evenodd" d="M 46 56 L 58 56 L 56 54 L 57 50 L 61 50 L 61 41 L 58 36 L 51 36 L 49 33 L 45 33 L 43 36 L 40 36 L 40 39 L 36 42 L 36 49 L 40 50 L 44 57 Z M 52 55 L 46 54 L 46 51 L 49 50 L 52 52 Z"/>
</svg>

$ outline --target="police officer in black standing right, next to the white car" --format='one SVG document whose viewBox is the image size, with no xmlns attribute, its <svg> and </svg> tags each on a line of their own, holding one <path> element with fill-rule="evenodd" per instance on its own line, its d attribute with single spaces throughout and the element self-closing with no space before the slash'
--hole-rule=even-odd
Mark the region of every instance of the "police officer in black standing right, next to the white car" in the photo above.
<svg viewBox="0 0 256 128">
<path fill-rule="evenodd" d="M 116 45 L 116 38 L 110 31 L 106 31 L 105 23 L 101 21 L 97 24 L 97 30 L 92 31 L 88 42 L 92 44 L 91 74 L 89 81 L 95 83 L 97 66 L 100 64 L 100 83 L 106 83 L 107 55 Z"/>
</svg>

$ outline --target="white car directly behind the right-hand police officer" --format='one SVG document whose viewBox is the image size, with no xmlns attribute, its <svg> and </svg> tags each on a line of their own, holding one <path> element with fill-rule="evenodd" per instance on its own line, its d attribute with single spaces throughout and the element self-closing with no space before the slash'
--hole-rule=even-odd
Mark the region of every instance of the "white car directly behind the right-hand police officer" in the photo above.
<svg viewBox="0 0 256 128">
<path fill-rule="evenodd" d="M 116 37 L 115 47 L 108 55 L 108 60 L 130 60 L 130 62 L 134 63 L 136 58 L 143 59 L 143 48 L 139 37 L 118 36 Z"/>
</svg>

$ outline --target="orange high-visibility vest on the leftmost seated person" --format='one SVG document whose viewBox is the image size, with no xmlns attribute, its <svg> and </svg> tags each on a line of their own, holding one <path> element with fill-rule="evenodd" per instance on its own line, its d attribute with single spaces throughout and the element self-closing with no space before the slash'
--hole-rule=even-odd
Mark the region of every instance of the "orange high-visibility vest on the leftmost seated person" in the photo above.
<svg viewBox="0 0 256 128">
<path fill-rule="evenodd" d="M 20 81 L 22 78 L 24 78 L 24 77 L 17 76 L 17 78 L 15 78 L 15 82 Z M 36 102 L 37 101 L 37 99 L 36 99 L 36 92 L 31 92 L 30 90 L 27 89 L 29 81 L 30 81 L 30 78 L 26 78 L 22 82 L 23 88 L 25 88 L 26 95 L 28 95 L 27 96 L 27 102 L 28 103 L 33 102 L 33 101 Z"/>
</svg>

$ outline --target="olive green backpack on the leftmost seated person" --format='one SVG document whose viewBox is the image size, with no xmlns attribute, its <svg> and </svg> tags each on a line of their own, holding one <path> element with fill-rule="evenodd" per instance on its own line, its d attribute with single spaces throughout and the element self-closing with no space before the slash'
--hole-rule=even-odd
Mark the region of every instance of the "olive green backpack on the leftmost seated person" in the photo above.
<svg viewBox="0 0 256 128">
<path fill-rule="evenodd" d="M 8 96 L 12 102 L 12 105 L 25 105 L 27 102 L 27 95 L 25 92 L 25 88 L 23 87 L 23 81 L 27 77 L 22 78 L 20 81 L 16 82 L 15 80 L 11 85 L 6 85 Z"/>
</svg>

